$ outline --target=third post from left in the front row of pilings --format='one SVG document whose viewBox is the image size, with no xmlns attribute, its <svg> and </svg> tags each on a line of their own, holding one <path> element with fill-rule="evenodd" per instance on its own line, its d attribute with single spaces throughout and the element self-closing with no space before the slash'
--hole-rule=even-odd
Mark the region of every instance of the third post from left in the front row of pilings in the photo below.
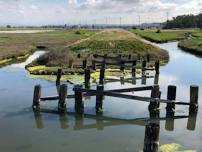
<svg viewBox="0 0 202 152">
<path fill-rule="evenodd" d="M 74 87 L 74 94 L 75 94 L 75 111 L 79 114 L 82 114 L 84 111 L 82 85 L 76 85 Z"/>
</svg>

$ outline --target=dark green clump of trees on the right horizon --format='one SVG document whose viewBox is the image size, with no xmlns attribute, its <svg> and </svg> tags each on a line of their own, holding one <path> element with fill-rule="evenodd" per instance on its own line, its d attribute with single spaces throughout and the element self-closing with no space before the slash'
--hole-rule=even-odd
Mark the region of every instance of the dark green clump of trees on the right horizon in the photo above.
<svg viewBox="0 0 202 152">
<path fill-rule="evenodd" d="M 170 28 L 200 28 L 202 29 L 202 13 L 198 15 L 181 15 L 168 20 L 165 29 Z"/>
</svg>

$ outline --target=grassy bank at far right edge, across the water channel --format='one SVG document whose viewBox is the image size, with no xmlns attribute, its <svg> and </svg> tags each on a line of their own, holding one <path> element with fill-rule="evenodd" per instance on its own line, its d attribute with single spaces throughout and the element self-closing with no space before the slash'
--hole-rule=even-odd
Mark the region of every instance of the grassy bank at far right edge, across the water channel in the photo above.
<svg viewBox="0 0 202 152">
<path fill-rule="evenodd" d="M 192 32 L 192 37 L 181 41 L 178 46 L 190 53 L 202 55 L 202 31 Z"/>
</svg>

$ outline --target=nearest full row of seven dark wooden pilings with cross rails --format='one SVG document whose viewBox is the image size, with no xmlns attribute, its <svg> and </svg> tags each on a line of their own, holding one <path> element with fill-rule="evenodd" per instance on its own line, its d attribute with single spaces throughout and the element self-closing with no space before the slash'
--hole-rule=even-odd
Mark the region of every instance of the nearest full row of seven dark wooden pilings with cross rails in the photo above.
<svg viewBox="0 0 202 152">
<path fill-rule="evenodd" d="M 190 87 L 190 102 L 179 102 L 176 101 L 176 86 L 168 86 L 167 99 L 160 99 L 161 92 L 159 85 L 147 86 L 147 87 L 138 87 L 138 88 L 128 88 L 128 89 L 117 89 L 117 90 L 104 90 L 103 85 L 98 85 L 96 90 L 83 89 L 82 85 L 76 85 L 74 87 L 74 94 L 68 95 L 68 89 L 66 84 L 62 84 L 59 89 L 59 96 L 54 97 L 41 97 L 41 86 L 36 85 L 34 88 L 34 97 L 33 97 L 33 109 L 40 108 L 40 101 L 46 100 L 59 100 L 58 101 L 58 110 L 66 111 L 66 103 L 68 98 L 75 99 L 75 111 L 78 113 L 83 113 L 84 111 L 84 101 L 83 96 L 96 96 L 96 112 L 100 112 L 103 109 L 103 97 L 111 96 L 117 98 L 124 98 L 130 100 L 139 100 L 149 103 L 149 111 L 154 111 L 156 113 L 159 109 L 160 103 L 166 103 L 166 109 L 168 113 L 173 113 L 175 111 L 175 105 L 189 105 L 191 112 L 198 110 L 198 86 Z M 140 97 L 133 95 L 121 94 L 124 92 L 133 92 L 133 91 L 145 91 L 151 90 L 151 97 Z"/>
</svg>

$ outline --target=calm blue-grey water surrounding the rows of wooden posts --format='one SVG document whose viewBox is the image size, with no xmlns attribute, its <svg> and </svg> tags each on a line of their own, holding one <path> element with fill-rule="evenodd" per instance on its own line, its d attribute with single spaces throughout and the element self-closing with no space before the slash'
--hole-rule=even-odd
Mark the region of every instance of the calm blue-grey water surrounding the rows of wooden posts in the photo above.
<svg viewBox="0 0 202 152">
<path fill-rule="evenodd" d="M 168 85 L 176 85 L 177 99 L 189 102 L 190 85 L 197 84 L 202 88 L 202 70 L 200 69 L 202 58 L 184 53 L 177 48 L 177 42 L 159 44 L 159 46 L 170 54 L 170 62 L 160 71 L 159 84 L 162 98 L 166 98 Z M 0 69 L 0 151 L 142 151 L 145 124 L 150 122 L 148 104 L 105 97 L 104 116 L 127 120 L 143 118 L 141 121 L 101 119 L 93 116 L 95 115 L 95 97 L 85 100 L 86 115 L 83 117 L 74 114 L 60 116 L 54 113 L 41 113 L 40 116 L 35 116 L 30 108 L 34 85 L 42 85 L 43 96 L 57 94 L 57 88 L 52 81 L 29 78 L 23 68 L 24 65 L 23 63 Z M 152 84 L 154 80 L 148 79 L 147 85 Z M 137 80 L 136 86 L 140 85 L 141 80 Z M 129 83 L 121 85 L 117 82 L 108 83 L 105 88 L 132 86 L 134 85 Z M 68 85 L 68 88 L 72 93 L 73 86 Z M 150 93 L 141 92 L 137 95 L 149 96 Z M 202 92 L 200 91 L 199 104 L 201 104 L 201 99 Z M 41 107 L 56 110 L 57 102 L 42 103 Z M 187 129 L 187 118 L 175 120 L 174 124 L 172 121 L 160 121 L 160 146 L 176 143 L 182 146 L 180 150 L 202 151 L 201 109 L 200 106 L 196 118 L 189 118 L 189 121 L 193 122 L 196 119 L 196 126 L 192 126 L 192 130 Z M 74 100 L 68 100 L 68 111 L 74 111 Z M 165 104 L 161 105 L 160 115 L 161 118 L 165 117 Z M 175 115 L 188 115 L 188 107 L 176 106 Z"/>
</svg>

